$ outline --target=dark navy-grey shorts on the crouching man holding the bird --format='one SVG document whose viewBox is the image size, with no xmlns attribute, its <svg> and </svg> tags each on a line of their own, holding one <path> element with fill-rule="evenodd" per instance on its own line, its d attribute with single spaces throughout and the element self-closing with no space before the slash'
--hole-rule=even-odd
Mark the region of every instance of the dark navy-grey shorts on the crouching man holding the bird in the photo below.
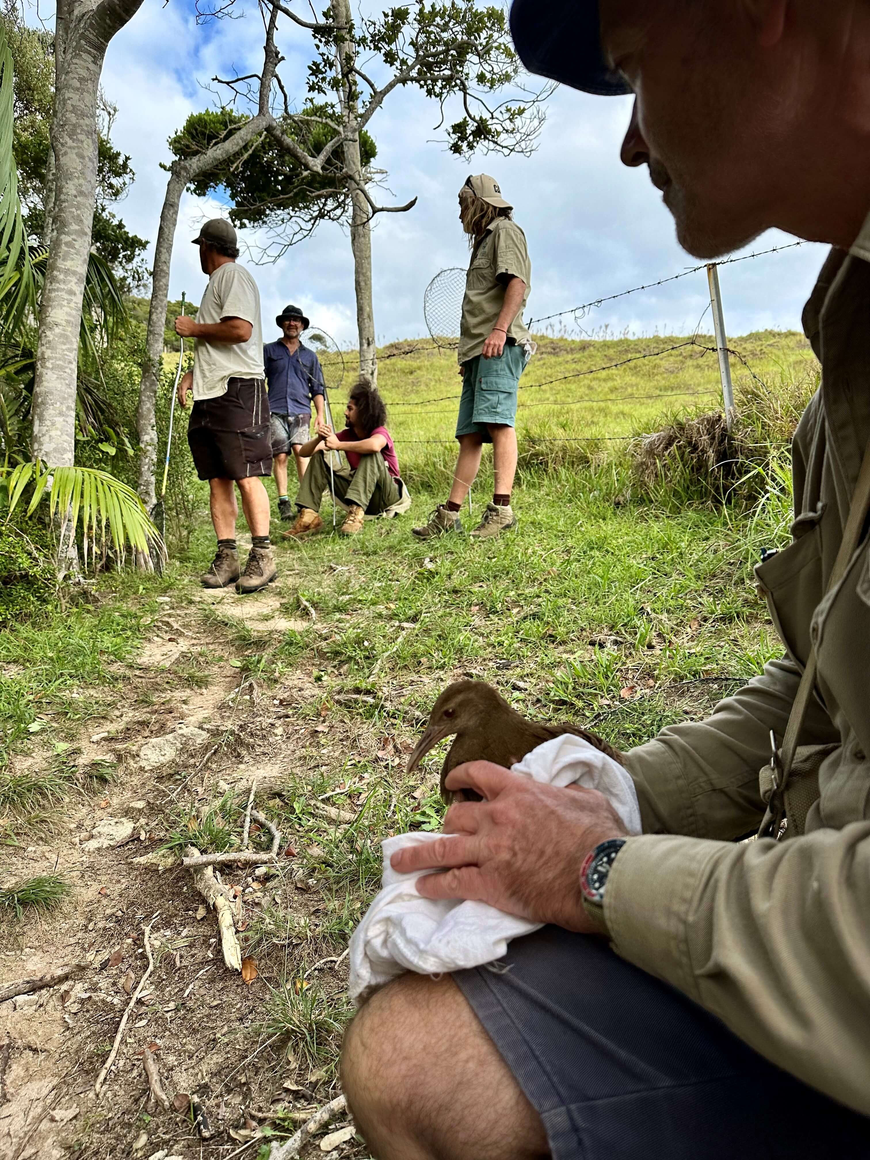
<svg viewBox="0 0 870 1160">
<path fill-rule="evenodd" d="M 870 1157 L 870 1119 L 603 938 L 544 927 L 454 979 L 541 1115 L 553 1160 Z"/>
</svg>

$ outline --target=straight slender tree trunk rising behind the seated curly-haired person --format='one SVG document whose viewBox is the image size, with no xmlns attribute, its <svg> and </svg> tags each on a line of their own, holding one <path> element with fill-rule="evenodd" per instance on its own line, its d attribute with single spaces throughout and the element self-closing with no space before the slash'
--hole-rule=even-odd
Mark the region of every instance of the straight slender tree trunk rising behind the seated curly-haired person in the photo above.
<svg viewBox="0 0 870 1160">
<path fill-rule="evenodd" d="M 375 306 L 371 300 L 371 206 L 365 200 L 360 152 L 360 114 L 356 79 L 356 44 L 350 35 L 353 15 L 348 0 L 332 0 L 333 21 L 348 32 L 336 48 L 336 66 L 341 79 L 339 102 L 345 131 L 345 169 L 353 206 L 350 217 L 350 248 L 354 253 L 354 290 L 356 292 L 356 326 L 360 339 L 360 374 L 368 375 L 377 385 L 377 348 L 375 346 Z"/>
</svg>

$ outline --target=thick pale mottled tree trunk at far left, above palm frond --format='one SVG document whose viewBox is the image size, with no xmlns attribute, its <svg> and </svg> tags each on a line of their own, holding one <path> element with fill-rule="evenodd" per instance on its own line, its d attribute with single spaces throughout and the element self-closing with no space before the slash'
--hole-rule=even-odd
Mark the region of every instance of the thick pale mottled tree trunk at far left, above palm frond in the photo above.
<svg viewBox="0 0 870 1160">
<path fill-rule="evenodd" d="M 39 306 L 32 407 L 32 454 L 51 466 L 75 457 L 79 326 L 96 195 L 96 108 L 109 41 L 142 0 L 60 0 L 63 43 L 55 82 L 51 142 L 55 198 L 51 249 Z"/>
</svg>

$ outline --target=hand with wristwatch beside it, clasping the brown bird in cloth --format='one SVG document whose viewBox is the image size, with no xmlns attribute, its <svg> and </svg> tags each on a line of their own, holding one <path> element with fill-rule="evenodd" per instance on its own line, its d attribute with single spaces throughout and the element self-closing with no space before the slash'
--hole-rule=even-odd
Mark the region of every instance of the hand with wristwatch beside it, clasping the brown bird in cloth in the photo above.
<svg viewBox="0 0 870 1160">
<path fill-rule="evenodd" d="M 490 761 L 457 766 L 447 788 L 486 800 L 450 806 L 444 833 L 456 836 L 400 850 L 393 870 L 445 870 L 418 879 L 423 898 L 477 899 L 531 922 L 594 931 L 580 868 L 600 842 L 628 833 L 603 793 L 543 785 Z"/>
</svg>

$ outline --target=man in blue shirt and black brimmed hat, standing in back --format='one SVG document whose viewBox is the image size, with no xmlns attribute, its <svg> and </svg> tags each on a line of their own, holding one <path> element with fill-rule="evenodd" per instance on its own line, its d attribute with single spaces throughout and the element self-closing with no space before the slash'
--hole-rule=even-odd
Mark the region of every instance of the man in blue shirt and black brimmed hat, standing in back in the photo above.
<svg viewBox="0 0 870 1160">
<path fill-rule="evenodd" d="M 314 351 L 299 341 L 310 322 L 298 306 L 284 306 L 275 325 L 281 327 L 282 338 L 263 347 L 271 411 L 273 470 L 278 514 L 282 520 L 292 520 L 296 508 L 288 493 L 287 462 L 292 448 L 296 473 L 302 483 L 309 461 L 299 455 L 299 448 L 309 441 L 312 403 L 318 422 L 324 422 L 324 372 Z"/>
</svg>

